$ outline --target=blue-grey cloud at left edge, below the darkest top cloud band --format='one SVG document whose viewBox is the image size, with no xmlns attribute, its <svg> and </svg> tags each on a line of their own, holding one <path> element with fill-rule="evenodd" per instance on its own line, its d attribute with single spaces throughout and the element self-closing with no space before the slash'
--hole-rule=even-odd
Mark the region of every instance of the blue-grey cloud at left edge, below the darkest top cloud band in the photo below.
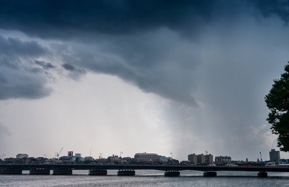
<svg viewBox="0 0 289 187">
<path fill-rule="evenodd" d="M 36 42 L 0 36 L 0 99 L 40 98 L 51 90 L 42 74 L 33 73 L 35 58 L 47 54 Z"/>
</svg>

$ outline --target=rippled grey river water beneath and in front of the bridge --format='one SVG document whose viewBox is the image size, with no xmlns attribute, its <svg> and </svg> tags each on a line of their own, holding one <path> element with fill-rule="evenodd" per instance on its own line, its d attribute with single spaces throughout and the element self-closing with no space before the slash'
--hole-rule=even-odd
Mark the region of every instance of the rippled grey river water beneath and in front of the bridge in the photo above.
<svg viewBox="0 0 289 187">
<path fill-rule="evenodd" d="M 52 172 L 52 171 L 51 171 Z M 258 178 L 257 172 L 218 171 L 217 177 L 203 177 L 201 171 L 180 171 L 180 177 L 164 177 L 163 171 L 136 170 L 135 176 L 89 176 L 87 170 L 72 175 L 0 175 L 0 187 L 289 187 L 289 173 L 268 172 Z"/>
</svg>

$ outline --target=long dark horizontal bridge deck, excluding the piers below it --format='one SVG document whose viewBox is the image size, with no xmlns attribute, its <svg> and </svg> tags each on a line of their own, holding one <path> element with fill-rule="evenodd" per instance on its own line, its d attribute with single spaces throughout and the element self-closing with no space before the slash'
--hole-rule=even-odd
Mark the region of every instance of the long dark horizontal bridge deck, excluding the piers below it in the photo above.
<svg viewBox="0 0 289 187">
<path fill-rule="evenodd" d="M 49 169 L 49 170 L 137 170 L 137 169 L 153 169 L 162 171 L 181 171 L 181 170 L 197 170 L 197 171 L 257 171 L 257 172 L 289 172 L 288 166 L 203 166 L 203 165 L 141 165 L 141 164 L 0 164 L 0 170 L 4 169 Z"/>
</svg>

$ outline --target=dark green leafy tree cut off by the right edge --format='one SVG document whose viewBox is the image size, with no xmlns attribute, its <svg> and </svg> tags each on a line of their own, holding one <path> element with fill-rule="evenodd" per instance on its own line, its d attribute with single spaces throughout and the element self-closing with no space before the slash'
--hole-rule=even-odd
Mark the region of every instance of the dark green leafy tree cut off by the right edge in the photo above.
<svg viewBox="0 0 289 187">
<path fill-rule="evenodd" d="M 277 146 L 281 151 L 289 151 L 289 62 L 284 67 L 285 73 L 274 80 L 265 102 L 270 110 L 267 121 L 272 124 L 272 133 L 279 135 Z"/>
</svg>

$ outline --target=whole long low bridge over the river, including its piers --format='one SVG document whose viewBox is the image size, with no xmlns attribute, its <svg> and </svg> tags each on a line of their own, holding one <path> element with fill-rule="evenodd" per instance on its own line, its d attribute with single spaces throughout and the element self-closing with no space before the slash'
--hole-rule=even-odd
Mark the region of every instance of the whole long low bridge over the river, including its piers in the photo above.
<svg viewBox="0 0 289 187">
<path fill-rule="evenodd" d="M 35 175 L 71 175 L 72 170 L 89 170 L 89 175 L 106 175 L 107 170 L 119 170 L 118 175 L 135 175 L 138 169 L 165 171 L 165 176 L 179 176 L 181 170 L 204 171 L 205 177 L 217 176 L 216 171 L 256 171 L 258 177 L 267 177 L 267 172 L 289 172 L 289 167 L 265 166 L 202 166 L 202 165 L 140 165 L 140 164 L 2 164 L 1 174 L 22 174 L 23 170 Z"/>
</svg>

